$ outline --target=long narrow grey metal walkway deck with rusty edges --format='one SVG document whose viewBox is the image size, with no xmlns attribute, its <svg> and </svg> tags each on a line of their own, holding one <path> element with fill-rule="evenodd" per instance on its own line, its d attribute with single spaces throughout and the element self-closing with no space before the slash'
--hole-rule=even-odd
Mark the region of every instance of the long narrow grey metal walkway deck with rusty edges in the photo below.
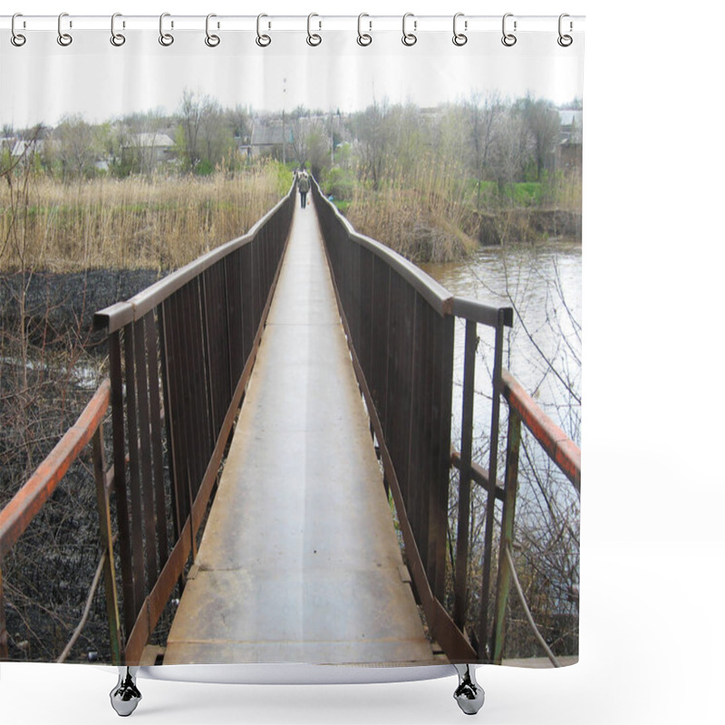
<svg viewBox="0 0 725 725">
<path fill-rule="evenodd" d="M 440 663 L 407 580 L 308 202 L 164 662 Z"/>
</svg>

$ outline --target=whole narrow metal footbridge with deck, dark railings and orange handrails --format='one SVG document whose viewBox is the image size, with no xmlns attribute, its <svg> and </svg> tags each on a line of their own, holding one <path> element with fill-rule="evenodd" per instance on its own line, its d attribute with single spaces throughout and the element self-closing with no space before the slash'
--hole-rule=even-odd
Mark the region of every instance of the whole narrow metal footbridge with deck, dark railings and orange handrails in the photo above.
<svg viewBox="0 0 725 725">
<path fill-rule="evenodd" d="M 114 662 L 501 662 L 522 422 L 579 488 L 578 449 L 502 369 L 512 310 L 449 295 L 311 196 L 299 208 L 293 187 L 244 237 L 96 314 L 109 380 L 0 513 L 1 561 L 92 445 Z M 479 334 L 488 469 L 471 462 Z M 476 582 L 472 486 L 488 492 Z M 0 658 L 2 604 L 0 578 Z"/>
</svg>

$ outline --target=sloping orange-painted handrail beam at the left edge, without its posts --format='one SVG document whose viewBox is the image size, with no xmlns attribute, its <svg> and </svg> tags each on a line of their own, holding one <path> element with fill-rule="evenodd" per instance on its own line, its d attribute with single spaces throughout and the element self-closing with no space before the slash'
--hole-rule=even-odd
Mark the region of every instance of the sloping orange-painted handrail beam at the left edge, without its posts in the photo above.
<svg viewBox="0 0 725 725">
<path fill-rule="evenodd" d="M 91 442 L 111 401 L 111 383 L 104 380 L 78 420 L 66 431 L 43 463 L 35 469 L 5 508 L 0 511 L 0 560 L 13 547 L 82 449 Z"/>
</svg>

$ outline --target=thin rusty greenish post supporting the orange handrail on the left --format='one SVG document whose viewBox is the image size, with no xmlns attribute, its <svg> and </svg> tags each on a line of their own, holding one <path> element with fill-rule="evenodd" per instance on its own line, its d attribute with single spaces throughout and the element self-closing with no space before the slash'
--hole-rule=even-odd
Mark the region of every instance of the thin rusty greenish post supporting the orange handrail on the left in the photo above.
<svg viewBox="0 0 725 725">
<path fill-rule="evenodd" d="M 113 560 L 113 536 L 111 530 L 111 509 L 108 488 L 106 488 L 106 464 L 103 455 L 103 425 L 93 434 L 93 477 L 96 482 L 98 520 L 101 532 L 101 547 L 105 552 L 103 564 L 103 586 L 106 593 L 106 614 L 111 635 L 111 662 L 121 664 L 121 615 L 116 590 L 116 566 Z"/>
</svg>

